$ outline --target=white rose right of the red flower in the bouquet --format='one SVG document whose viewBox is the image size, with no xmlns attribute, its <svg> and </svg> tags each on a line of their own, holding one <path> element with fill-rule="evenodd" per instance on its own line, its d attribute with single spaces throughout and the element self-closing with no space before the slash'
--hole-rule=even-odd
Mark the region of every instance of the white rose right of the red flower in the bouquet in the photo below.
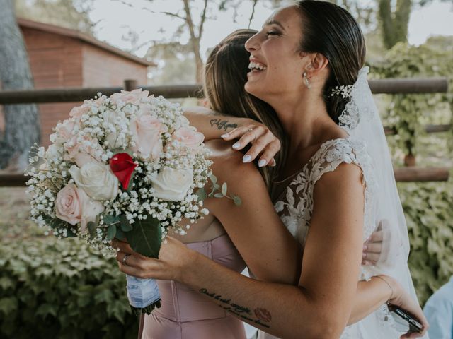
<svg viewBox="0 0 453 339">
<path fill-rule="evenodd" d="M 151 182 L 155 190 L 152 196 L 168 201 L 181 201 L 193 183 L 193 173 L 187 169 L 164 167 Z"/>
</svg>

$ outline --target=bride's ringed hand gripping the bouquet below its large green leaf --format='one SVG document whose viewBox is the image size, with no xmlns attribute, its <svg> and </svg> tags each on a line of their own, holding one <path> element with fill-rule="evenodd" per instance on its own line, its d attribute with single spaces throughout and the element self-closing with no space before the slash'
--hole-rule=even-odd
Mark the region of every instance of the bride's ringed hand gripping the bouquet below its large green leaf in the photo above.
<svg viewBox="0 0 453 339">
<path fill-rule="evenodd" d="M 159 259 L 148 258 L 134 252 L 127 242 L 113 240 L 112 246 L 118 249 L 116 260 L 123 273 L 137 278 L 182 281 L 190 265 L 194 263 L 197 252 L 188 249 L 183 243 L 166 237 L 159 251 Z M 126 256 L 126 259 L 125 259 Z"/>
</svg>

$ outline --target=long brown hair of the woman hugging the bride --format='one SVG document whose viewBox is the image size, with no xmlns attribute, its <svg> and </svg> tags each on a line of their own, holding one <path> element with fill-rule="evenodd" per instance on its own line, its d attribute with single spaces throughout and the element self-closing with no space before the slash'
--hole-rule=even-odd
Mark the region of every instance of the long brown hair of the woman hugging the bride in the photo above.
<svg viewBox="0 0 453 339">
<path fill-rule="evenodd" d="M 275 110 L 263 100 L 246 93 L 248 57 L 246 41 L 256 34 L 256 30 L 236 30 L 217 44 L 205 66 L 204 91 L 210 108 L 234 117 L 247 117 L 268 126 L 279 138 L 282 148 L 275 155 L 275 167 L 261 167 L 268 190 L 272 190 L 282 165 L 285 164 L 285 133 Z"/>
</svg>

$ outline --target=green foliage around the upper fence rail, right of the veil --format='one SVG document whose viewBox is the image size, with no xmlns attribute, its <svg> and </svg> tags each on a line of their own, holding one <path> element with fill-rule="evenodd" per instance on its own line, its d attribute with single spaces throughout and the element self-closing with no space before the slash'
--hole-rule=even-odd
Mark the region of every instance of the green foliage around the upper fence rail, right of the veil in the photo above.
<svg viewBox="0 0 453 339">
<path fill-rule="evenodd" d="M 437 45 L 440 44 L 436 41 Z M 452 53 L 430 42 L 420 47 L 398 43 L 387 52 L 384 61 L 372 65 L 382 78 L 426 78 L 453 73 Z M 391 95 L 384 119 L 396 130 L 393 141 L 405 154 L 415 155 L 418 137 L 425 134 L 424 124 L 449 124 L 453 105 L 452 86 L 442 94 Z"/>
</svg>

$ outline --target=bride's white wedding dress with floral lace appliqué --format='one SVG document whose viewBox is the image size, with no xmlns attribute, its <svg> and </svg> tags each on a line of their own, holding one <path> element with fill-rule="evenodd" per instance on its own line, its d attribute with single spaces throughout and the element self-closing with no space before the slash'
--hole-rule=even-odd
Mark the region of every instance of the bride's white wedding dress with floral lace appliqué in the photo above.
<svg viewBox="0 0 453 339">
<path fill-rule="evenodd" d="M 364 242 L 376 227 L 371 213 L 376 181 L 372 161 L 365 150 L 364 143 L 352 137 L 326 141 L 309 162 L 297 174 L 294 174 L 292 181 L 275 203 L 275 210 L 279 213 L 282 222 L 302 246 L 306 241 L 313 211 L 314 185 L 323 174 L 334 171 L 342 162 L 358 165 L 362 169 L 365 182 Z M 368 279 L 377 274 L 379 273 L 373 272 L 372 268 L 362 266 L 359 280 Z M 400 335 L 401 333 L 395 328 L 393 318 L 389 315 L 389 309 L 383 305 L 362 321 L 346 327 L 340 338 L 396 339 Z M 258 339 L 273 338 L 277 337 L 261 331 L 258 335 Z"/>
</svg>

